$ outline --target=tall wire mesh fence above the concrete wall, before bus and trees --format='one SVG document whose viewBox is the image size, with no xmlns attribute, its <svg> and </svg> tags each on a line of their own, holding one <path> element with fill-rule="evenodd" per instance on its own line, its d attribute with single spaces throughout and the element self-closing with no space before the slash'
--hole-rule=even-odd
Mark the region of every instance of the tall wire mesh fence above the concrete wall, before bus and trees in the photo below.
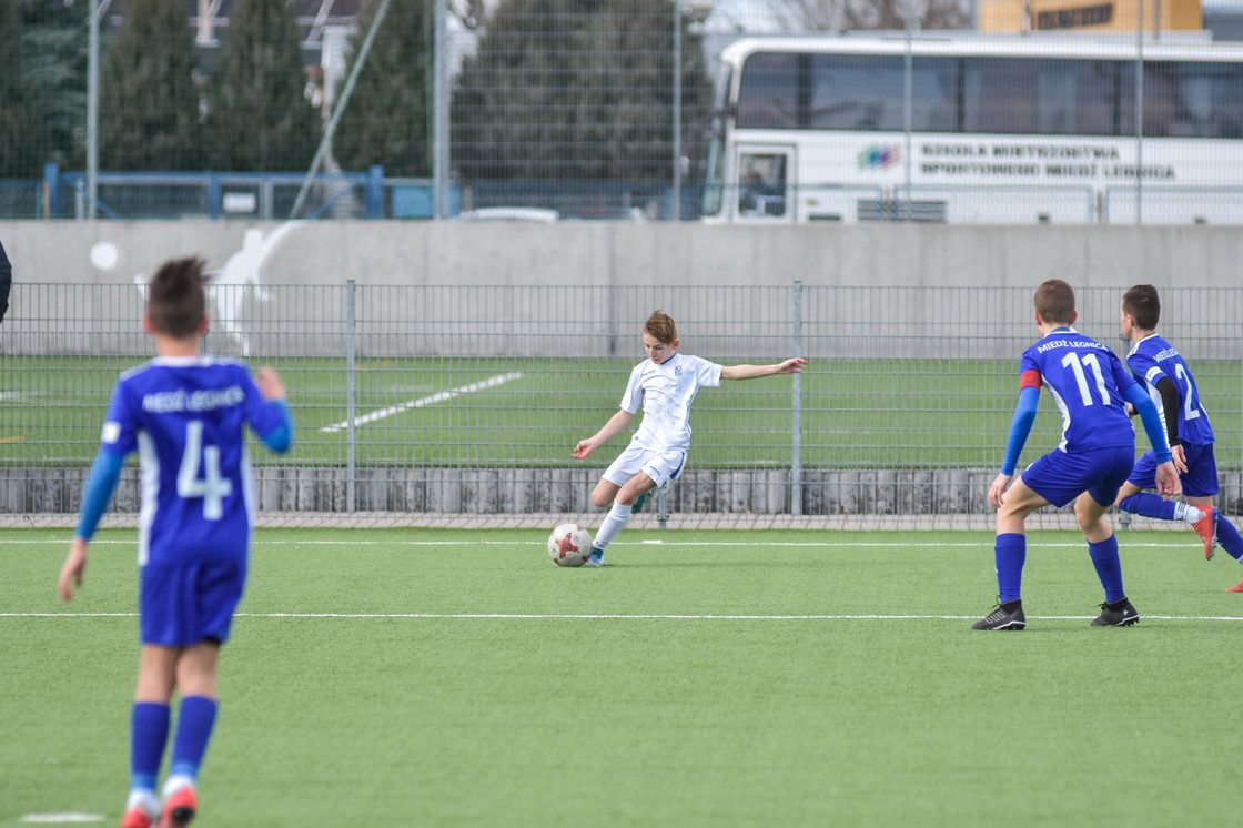
<svg viewBox="0 0 1243 828">
<path fill-rule="evenodd" d="M 1233 5 L 4 0 L 0 216 L 1237 224 Z"/>
</svg>

